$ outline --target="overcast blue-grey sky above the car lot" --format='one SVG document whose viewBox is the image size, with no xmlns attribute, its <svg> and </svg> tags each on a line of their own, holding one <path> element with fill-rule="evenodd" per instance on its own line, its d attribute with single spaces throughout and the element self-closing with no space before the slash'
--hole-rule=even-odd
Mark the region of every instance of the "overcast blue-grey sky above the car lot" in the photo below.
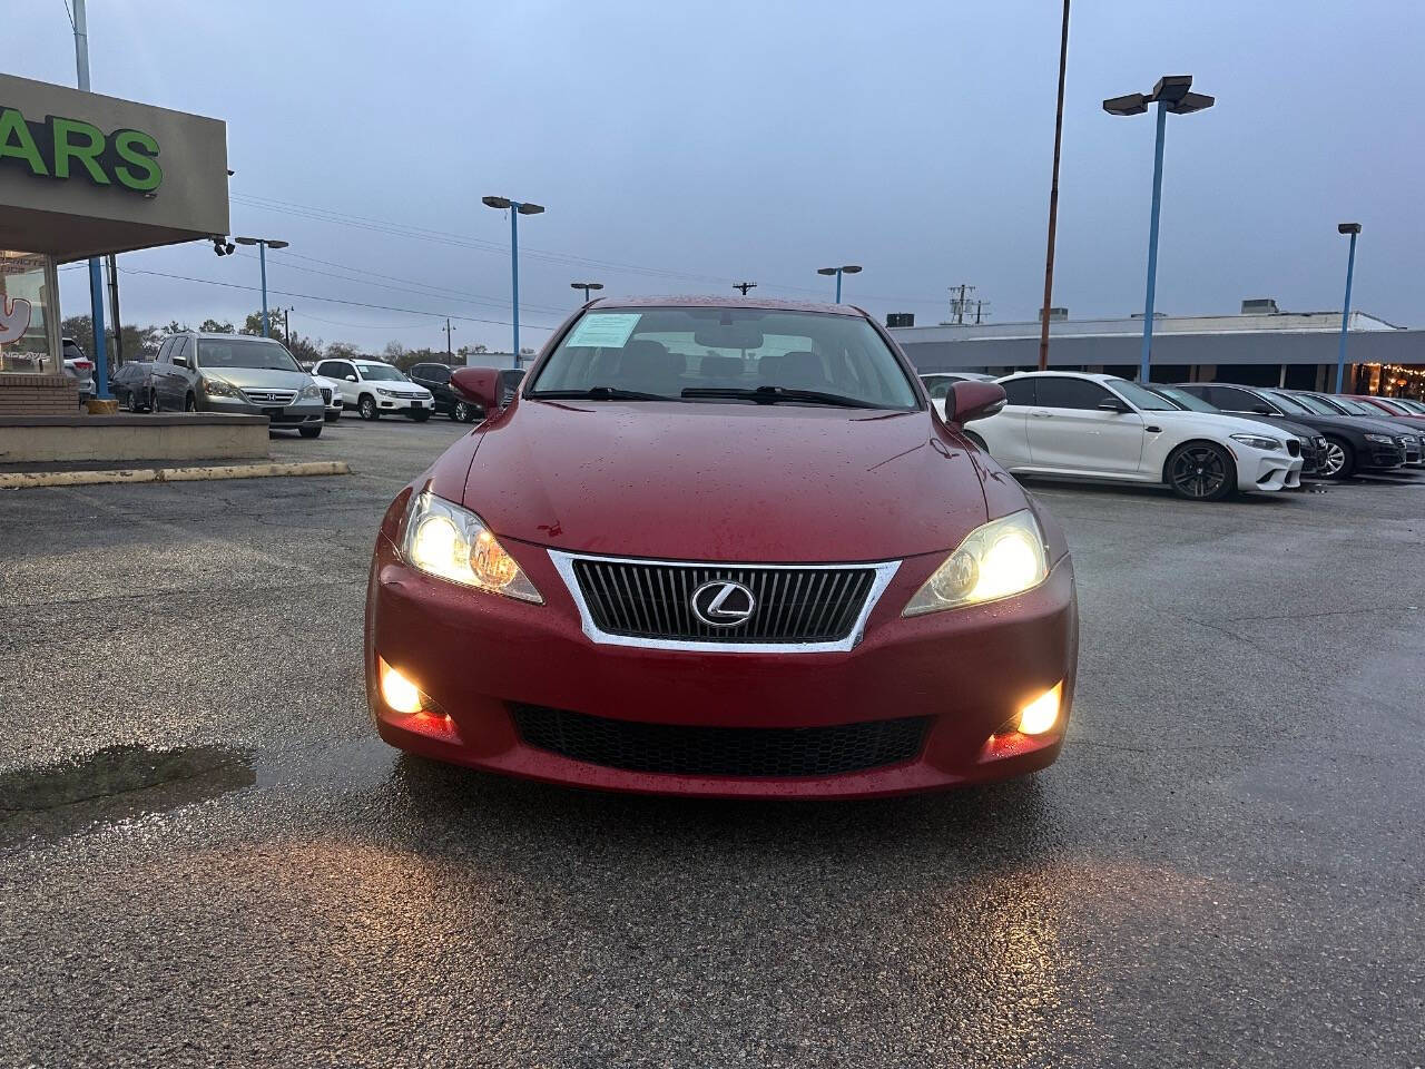
<svg viewBox="0 0 1425 1069">
<path fill-rule="evenodd" d="M 456 346 L 507 348 L 509 221 L 483 194 L 547 205 L 520 221 L 526 344 L 577 304 L 576 279 L 829 299 L 831 264 L 865 265 L 845 299 L 878 316 L 940 321 L 966 282 L 1006 322 L 1042 299 L 1060 10 L 91 0 L 90 64 L 95 91 L 228 123 L 234 232 L 292 242 L 268 279 L 301 296 L 272 304 L 326 341 L 443 348 L 450 314 Z M 74 84 L 61 0 L 10 3 L 6 21 L 9 73 Z M 1355 306 L 1425 322 L 1422 40 L 1416 0 L 1079 0 L 1054 304 L 1141 309 L 1153 121 L 1100 101 L 1191 73 L 1217 107 L 1168 120 L 1159 309 L 1338 309 L 1335 224 L 1358 220 Z M 207 245 L 120 264 L 258 281 L 255 259 Z M 64 311 L 87 311 L 83 272 L 63 278 Z M 140 274 L 121 299 L 140 322 L 258 305 Z"/>
</svg>

